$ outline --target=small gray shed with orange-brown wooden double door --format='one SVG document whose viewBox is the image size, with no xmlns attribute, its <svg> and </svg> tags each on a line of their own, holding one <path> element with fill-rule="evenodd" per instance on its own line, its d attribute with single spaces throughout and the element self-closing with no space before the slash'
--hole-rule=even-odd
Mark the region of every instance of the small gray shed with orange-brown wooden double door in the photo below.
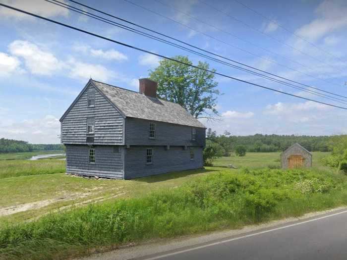
<svg viewBox="0 0 347 260">
<path fill-rule="evenodd" d="M 281 167 L 283 169 L 312 167 L 312 154 L 295 143 L 281 154 Z"/>
</svg>

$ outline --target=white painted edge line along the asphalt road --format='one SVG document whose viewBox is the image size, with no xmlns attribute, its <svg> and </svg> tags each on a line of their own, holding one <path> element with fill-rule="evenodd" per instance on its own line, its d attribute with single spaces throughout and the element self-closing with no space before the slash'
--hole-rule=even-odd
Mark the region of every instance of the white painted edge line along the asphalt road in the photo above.
<svg viewBox="0 0 347 260">
<path fill-rule="evenodd" d="M 253 237 L 253 236 L 257 236 L 257 235 L 273 232 L 273 231 L 280 230 L 280 229 L 285 229 L 285 228 L 289 228 L 289 227 L 293 227 L 293 226 L 302 225 L 302 224 L 305 224 L 305 223 L 308 223 L 308 222 L 317 221 L 317 220 L 320 220 L 320 219 L 323 219 L 323 218 L 332 217 L 332 216 L 340 215 L 340 214 L 343 214 L 343 213 L 347 213 L 347 210 L 341 211 L 341 212 L 338 212 L 338 213 L 334 213 L 334 214 L 330 214 L 330 215 L 326 215 L 326 216 L 322 216 L 322 217 L 313 218 L 313 219 L 302 221 L 302 222 L 295 223 L 295 224 L 290 224 L 290 225 L 283 226 L 283 227 L 277 227 L 277 228 L 273 228 L 273 229 L 269 229 L 269 230 L 265 230 L 265 231 L 261 231 L 261 232 L 257 232 L 257 233 L 253 233 L 253 234 L 249 234 L 249 235 L 245 235 L 245 236 L 241 236 L 241 237 L 235 237 L 235 238 L 231 238 L 231 239 L 227 239 L 227 240 L 223 240 L 223 241 L 219 241 L 219 242 L 215 242 L 215 243 L 211 243 L 211 244 L 207 244 L 207 245 L 203 245 L 203 246 L 198 246 L 198 247 L 189 248 L 189 249 L 185 249 L 185 250 L 181 250 L 181 251 L 176 251 L 176 252 L 173 252 L 173 253 L 169 253 L 169 254 L 165 254 L 165 255 L 161 255 L 161 256 L 157 256 L 157 257 L 146 258 L 145 260 L 156 260 L 156 259 L 166 258 L 166 257 L 170 257 L 170 256 L 173 256 L 173 255 L 178 255 L 178 254 L 190 252 L 190 251 L 197 250 L 197 249 L 202 249 L 202 248 L 206 248 L 206 247 L 212 247 L 212 246 L 228 243 L 228 242 L 231 242 L 231 241 L 235 241 L 235 240 L 239 240 L 239 239 L 243 239 L 243 238 L 247 238 L 247 237 Z"/>
</svg>

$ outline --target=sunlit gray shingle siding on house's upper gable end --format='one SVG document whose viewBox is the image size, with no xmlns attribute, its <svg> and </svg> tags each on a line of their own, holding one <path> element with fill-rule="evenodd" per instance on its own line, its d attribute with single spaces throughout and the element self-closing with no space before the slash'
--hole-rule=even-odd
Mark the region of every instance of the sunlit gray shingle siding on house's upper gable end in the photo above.
<svg viewBox="0 0 347 260">
<path fill-rule="evenodd" d="M 95 106 L 87 106 L 87 93 L 95 90 Z M 86 144 L 87 118 L 95 118 L 94 144 L 123 144 L 124 117 L 98 90 L 89 86 L 61 121 L 63 144 Z"/>
</svg>

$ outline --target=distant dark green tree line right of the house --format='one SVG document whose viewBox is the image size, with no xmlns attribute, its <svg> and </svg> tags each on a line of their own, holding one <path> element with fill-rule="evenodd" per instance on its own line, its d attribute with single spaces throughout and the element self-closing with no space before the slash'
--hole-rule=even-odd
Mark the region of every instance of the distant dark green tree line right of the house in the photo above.
<svg viewBox="0 0 347 260">
<path fill-rule="evenodd" d="M 228 131 L 217 135 L 211 128 L 207 129 L 206 138 L 223 148 L 224 156 L 235 152 L 235 148 L 242 146 L 246 152 L 282 152 L 294 143 L 299 143 L 308 151 L 332 151 L 330 136 L 296 136 L 296 135 L 262 135 L 233 136 Z"/>
</svg>

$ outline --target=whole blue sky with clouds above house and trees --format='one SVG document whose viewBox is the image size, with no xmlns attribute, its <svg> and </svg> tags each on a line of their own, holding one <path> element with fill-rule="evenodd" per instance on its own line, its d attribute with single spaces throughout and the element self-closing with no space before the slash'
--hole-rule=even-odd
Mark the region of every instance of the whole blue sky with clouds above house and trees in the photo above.
<svg viewBox="0 0 347 260">
<path fill-rule="evenodd" d="M 209 3 L 234 19 L 199 0 L 131 1 L 179 23 L 124 0 L 81 0 L 210 52 L 347 96 L 347 86 L 344 85 L 347 81 L 345 0 L 243 1 L 276 23 L 232 0 Z M 44 0 L 0 2 L 152 52 L 168 56 L 188 55 L 194 64 L 204 60 Z M 205 24 L 192 17 L 203 20 Z M 0 23 L 0 137 L 31 143 L 58 143 L 58 119 L 90 77 L 138 90 L 138 79 L 148 76 L 148 70 L 155 68 L 159 61 L 156 56 L 86 36 L 4 7 L 0 7 Z M 278 24 L 295 32 L 301 39 Z M 213 61 L 208 62 L 221 73 L 307 98 L 332 102 Z M 219 90 L 224 93 L 219 97 L 217 105 L 221 120 L 202 122 L 218 133 L 225 130 L 234 135 L 332 135 L 347 132 L 346 110 L 305 102 L 219 76 L 216 80 L 219 82 Z"/>
</svg>

